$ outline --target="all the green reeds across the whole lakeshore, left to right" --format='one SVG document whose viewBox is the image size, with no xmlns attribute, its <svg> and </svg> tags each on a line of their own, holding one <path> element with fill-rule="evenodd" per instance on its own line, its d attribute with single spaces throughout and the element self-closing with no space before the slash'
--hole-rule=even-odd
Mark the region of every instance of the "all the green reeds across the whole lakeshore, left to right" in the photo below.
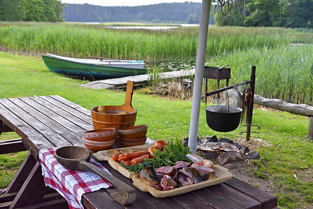
<svg viewBox="0 0 313 209">
<path fill-rule="evenodd" d="M 198 33 L 199 27 L 151 31 L 70 23 L 0 22 L 0 48 L 23 54 L 154 62 L 196 57 Z M 210 26 L 207 56 L 213 59 L 208 64 L 229 64 L 233 84 L 249 80 L 251 65 L 256 65 L 256 94 L 313 105 L 312 45 L 290 46 L 312 43 L 312 37 L 312 30 L 301 28 Z M 209 89 L 215 88 L 214 81 L 209 83 Z"/>
</svg>

